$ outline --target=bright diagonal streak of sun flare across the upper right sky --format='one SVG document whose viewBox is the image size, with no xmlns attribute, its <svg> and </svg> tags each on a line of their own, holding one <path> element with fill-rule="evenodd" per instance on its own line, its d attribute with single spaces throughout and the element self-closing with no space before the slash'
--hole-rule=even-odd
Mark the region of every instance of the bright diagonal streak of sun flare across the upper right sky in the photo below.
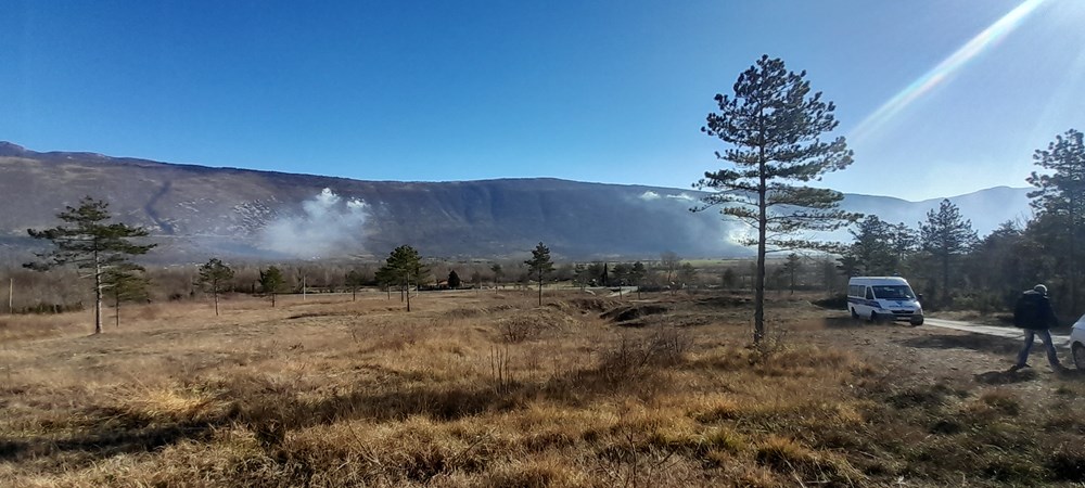
<svg viewBox="0 0 1085 488">
<path fill-rule="evenodd" d="M 997 22 L 983 29 L 982 33 L 965 43 L 960 49 L 946 57 L 933 69 L 917 78 L 904 90 L 901 90 L 877 111 L 863 119 L 848 134 L 850 142 L 858 142 L 883 126 L 893 116 L 901 113 L 920 97 L 930 93 L 939 85 L 952 78 L 969 61 L 990 49 L 999 40 L 1020 26 L 1030 14 L 1036 11 L 1047 0 L 1026 0 L 1016 7 Z"/>
</svg>

